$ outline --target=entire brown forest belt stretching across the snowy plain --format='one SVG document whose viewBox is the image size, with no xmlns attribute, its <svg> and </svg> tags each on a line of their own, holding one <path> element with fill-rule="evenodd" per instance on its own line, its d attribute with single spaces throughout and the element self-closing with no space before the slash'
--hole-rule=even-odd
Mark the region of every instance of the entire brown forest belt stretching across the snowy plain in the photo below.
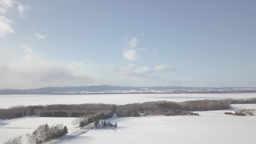
<svg viewBox="0 0 256 144">
<path fill-rule="evenodd" d="M 137 117 L 140 113 L 146 115 L 197 115 L 190 111 L 224 110 L 229 109 L 230 104 L 252 104 L 256 98 L 247 99 L 205 99 L 184 102 L 155 101 L 133 103 L 125 105 L 115 104 L 54 104 L 54 105 L 30 105 L 14 106 L 0 109 L 0 117 L 13 119 L 23 116 L 40 117 L 86 117 L 93 121 L 98 117 L 106 119 L 113 113 L 118 117 Z"/>
</svg>

